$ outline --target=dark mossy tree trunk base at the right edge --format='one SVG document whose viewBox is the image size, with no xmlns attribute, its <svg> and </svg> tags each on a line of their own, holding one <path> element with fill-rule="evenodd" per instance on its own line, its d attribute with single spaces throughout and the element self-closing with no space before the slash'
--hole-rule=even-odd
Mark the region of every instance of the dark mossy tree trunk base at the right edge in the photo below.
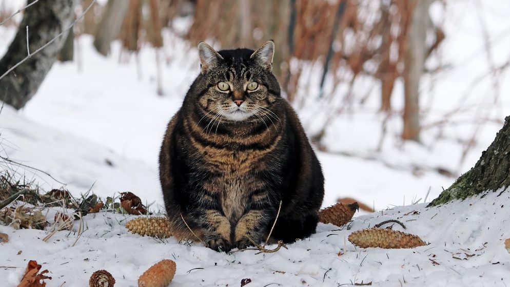
<svg viewBox="0 0 510 287">
<path fill-rule="evenodd" d="M 497 133 L 491 146 L 482 152 L 475 166 L 460 176 L 452 186 L 444 190 L 430 205 L 465 199 L 486 190 L 504 190 L 510 187 L 510 116 Z"/>
</svg>

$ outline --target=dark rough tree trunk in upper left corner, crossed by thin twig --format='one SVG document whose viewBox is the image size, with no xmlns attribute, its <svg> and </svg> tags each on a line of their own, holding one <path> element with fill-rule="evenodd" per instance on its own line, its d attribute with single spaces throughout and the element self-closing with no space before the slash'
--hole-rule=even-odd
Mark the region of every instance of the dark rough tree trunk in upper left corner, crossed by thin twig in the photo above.
<svg viewBox="0 0 510 287">
<path fill-rule="evenodd" d="M 75 0 L 41 1 L 29 7 L 7 53 L 0 60 L 0 74 L 27 55 L 27 26 L 30 51 L 42 47 L 71 25 Z M 34 54 L 0 80 L 0 100 L 21 109 L 37 92 L 66 40 L 65 36 Z"/>
</svg>

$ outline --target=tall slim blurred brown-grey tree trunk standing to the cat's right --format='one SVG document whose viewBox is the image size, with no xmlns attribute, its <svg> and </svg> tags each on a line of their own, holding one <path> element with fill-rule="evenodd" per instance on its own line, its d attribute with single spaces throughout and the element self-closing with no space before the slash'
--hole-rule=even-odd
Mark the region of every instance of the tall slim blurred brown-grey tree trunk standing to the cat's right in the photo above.
<svg viewBox="0 0 510 287">
<path fill-rule="evenodd" d="M 432 0 L 409 0 L 410 23 L 407 30 L 404 56 L 404 129 L 402 139 L 420 141 L 421 74 L 425 67 L 427 30 L 431 27 L 428 9 Z"/>
</svg>

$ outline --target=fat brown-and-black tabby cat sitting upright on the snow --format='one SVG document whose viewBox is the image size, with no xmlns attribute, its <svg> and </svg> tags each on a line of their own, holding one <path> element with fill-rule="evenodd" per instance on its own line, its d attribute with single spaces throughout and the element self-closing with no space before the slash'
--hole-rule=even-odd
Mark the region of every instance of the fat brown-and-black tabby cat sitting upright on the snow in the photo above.
<svg viewBox="0 0 510 287">
<path fill-rule="evenodd" d="M 160 152 L 175 234 L 216 251 L 244 248 L 266 239 L 280 202 L 271 240 L 315 233 L 324 178 L 272 73 L 274 43 L 217 52 L 201 42 L 198 49 L 201 72 Z"/>
</svg>

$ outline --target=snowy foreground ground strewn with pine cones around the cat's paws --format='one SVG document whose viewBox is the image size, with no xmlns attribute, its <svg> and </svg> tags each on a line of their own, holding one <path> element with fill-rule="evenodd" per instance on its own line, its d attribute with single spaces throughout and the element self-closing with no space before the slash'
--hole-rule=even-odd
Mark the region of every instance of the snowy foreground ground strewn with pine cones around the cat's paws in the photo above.
<svg viewBox="0 0 510 287">
<path fill-rule="evenodd" d="M 44 231 L 0 225 L 9 235 L 0 243 L 2 286 L 14 287 L 29 260 L 49 270 L 48 286 L 86 286 L 90 275 L 105 269 L 115 286 L 136 286 L 138 277 L 161 259 L 177 264 L 170 286 L 508 286 L 510 254 L 504 239 L 510 237 L 510 194 L 489 193 L 484 198 L 453 202 L 438 208 L 425 204 L 396 207 L 358 216 L 346 227 L 318 226 L 317 234 L 288 245 L 288 250 L 255 255 L 254 251 L 217 253 L 200 243 L 180 244 L 173 238 L 156 240 L 131 234 L 129 218 L 101 212 L 84 217 L 86 231 L 58 232 L 48 242 Z M 48 218 L 53 218 L 50 212 Z M 490 218 L 490 220 L 488 220 Z M 414 249 L 358 248 L 347 241 L 352 231 L 398 219 L 429 243 Z M 74 244 L 74 246 L 73 246 Z M 274 246 L 268 246 L 274 247 Z M 271 285 L 272 284 L 272 285 Z"/>
</svg>

